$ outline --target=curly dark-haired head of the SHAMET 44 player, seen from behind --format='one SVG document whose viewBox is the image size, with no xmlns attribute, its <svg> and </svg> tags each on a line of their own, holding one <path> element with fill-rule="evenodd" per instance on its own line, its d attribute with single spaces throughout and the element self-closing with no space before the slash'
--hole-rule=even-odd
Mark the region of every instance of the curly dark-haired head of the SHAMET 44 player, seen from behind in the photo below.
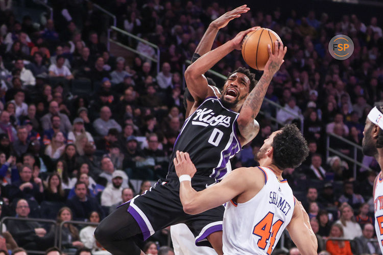
<svg viewBox="0 0 383 255">
<path fill-rule="evenodd" d="M 257 152 L 261 166 L 274 165 L 280 170 L 298 167 L 308 156 L 308 146 L 302 133 L 294 124 L 273 132 Z"/>
</svg>

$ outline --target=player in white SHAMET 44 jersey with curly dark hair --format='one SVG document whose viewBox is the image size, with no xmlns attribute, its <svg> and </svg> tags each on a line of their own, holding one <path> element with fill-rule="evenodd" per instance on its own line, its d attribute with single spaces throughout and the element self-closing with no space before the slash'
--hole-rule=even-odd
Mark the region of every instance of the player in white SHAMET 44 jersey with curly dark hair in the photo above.
<svg viewBox="0 0 383 255">
<path fill-rule="evenodd" d="M 285 168 L 299 166 L 308 155 L 307 142 L 289 124 L 265 140 L 256 155 L 261 167 L 238 168 L 223 181 L 197 192 L 190 185 L 196 168 L 187 153 L 174 159 L 180 199 L 188 214 L 226 202 L 223 219 L 224 254 L 271 254 L 284 228 L 301 254 L 317 254 L 317 238 L 308 215 L 282 180 Z"/>
</svg>

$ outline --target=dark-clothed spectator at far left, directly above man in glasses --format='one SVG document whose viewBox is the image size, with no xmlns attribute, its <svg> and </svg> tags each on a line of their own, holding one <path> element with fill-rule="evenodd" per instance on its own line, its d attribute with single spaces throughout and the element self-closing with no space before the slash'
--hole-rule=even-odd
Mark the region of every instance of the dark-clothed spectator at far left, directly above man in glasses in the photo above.
<svg viewBox="0 0 383 255">
<path fill-rule="evenodd" d="M 33 179 L 32 168 L 27 165 L 20 168 L 19 175 L 20 180 L 13 182 L 9 188 L 9 200 L 12 201 L 16 198 L 23 198 L 41 202 L 44 195 L 44 187 L 41 179 Z"/>
</svg>

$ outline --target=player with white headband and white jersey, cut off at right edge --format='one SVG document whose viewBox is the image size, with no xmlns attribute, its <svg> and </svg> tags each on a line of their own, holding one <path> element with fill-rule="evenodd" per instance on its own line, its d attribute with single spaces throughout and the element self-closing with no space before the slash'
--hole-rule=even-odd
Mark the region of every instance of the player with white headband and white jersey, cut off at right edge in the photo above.
<svg viewBox="0 0 383 255">
<path fill-rule="evenodd" d="M 383 170 L 383 103 L 376 103 L 367 115 L 363 131 L 363 154 L 374 157 Z M 375 232 L 380 250 L 383 252 L 383 172 L 380 171 L 374 182 Z"/>
</svg>

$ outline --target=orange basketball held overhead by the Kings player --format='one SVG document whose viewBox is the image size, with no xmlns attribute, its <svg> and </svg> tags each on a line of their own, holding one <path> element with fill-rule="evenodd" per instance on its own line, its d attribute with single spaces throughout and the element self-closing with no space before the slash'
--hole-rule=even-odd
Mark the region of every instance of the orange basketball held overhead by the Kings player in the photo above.
<svg viewBox="0 0 383 255">
<path fill-rule="evenodd" d="M 264 70 L 269 60 L 267 45 L 270 44 L 274 53 L 274 42 L 281 42 L 281 39 L 274 31 L 260 28 L 248 33 L 242 41 L 242 57 L 245 62 L 254 69 Z"/>
</svg>

